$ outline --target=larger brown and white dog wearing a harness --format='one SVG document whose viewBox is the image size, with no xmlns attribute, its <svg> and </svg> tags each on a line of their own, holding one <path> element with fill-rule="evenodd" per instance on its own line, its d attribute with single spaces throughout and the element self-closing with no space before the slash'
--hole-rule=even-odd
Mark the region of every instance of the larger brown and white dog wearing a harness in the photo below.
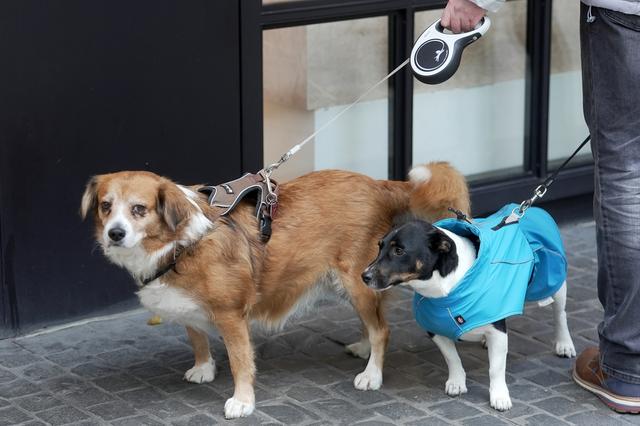
<svg viewBox="0 0 640 426">
<path fill-rule="evenodd" d="M 93 215 L 99 245 L 133 275 L 142 305 L 186 327 L 195 353 L 186 380 L 214 379 L 207 330 L 217 327 L 235 383 L 225 416 L 236 418 L 251 414 L 255 405 L 250 322 L 282 326 L 322 287 L 348 299 L 363 323 L 363 339 L 347 346 L 369 358 L 354 386 L 380 388 L 389 328 L 382 296 L 362 282 L 361 272 L 394 217 L 411 212 L 433 221 L 450 216 L 449 207 L 469 213 L 465 180 L 447 163 L 416 167 L 410 177 L 376 181 L 328 170 L 284 183 L 266 244 L 255 205 L 242 202 L 219 218 L 197 187 L 149 172 L 94 176 L 81 214 Z M 167 272 L 142 284 L 162 270 Z"/>
</svg>

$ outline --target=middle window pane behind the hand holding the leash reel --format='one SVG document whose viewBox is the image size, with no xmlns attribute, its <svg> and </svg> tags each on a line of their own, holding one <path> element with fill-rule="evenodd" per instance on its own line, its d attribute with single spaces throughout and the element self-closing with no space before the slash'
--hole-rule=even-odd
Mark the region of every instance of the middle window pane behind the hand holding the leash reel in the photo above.
<svg viewBox="0 0 640 426">
<path fill-rule="evenodd" d="M 441 14 L 416 13 L 415 38 Z M 448 81 L 414 80 L 414 163 L 446 160 L 470 180 L 522 172 L 526 2 L 507 2 L 491 24 Z"/>
</svg>

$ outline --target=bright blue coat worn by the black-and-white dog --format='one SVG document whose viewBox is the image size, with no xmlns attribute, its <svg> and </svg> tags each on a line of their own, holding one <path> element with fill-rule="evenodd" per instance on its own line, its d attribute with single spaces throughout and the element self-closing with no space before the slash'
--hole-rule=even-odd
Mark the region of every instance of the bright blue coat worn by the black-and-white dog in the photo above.
<svg viewBox="0 0 640 426">
<path fill-rule="evenodd" d="M 434 224 L 461 237 L 476 236 L 478 255 L 446 297 L 416 293 L 413 311 L 425 330 L 457 340 L 474 328 L 521 315 L 525 301 L 552 296 L 567 277 L 558 226 L 544 210 L 531 207 L 519 221 L 494 230 L 517 204 L 468 223 L 444 219 Z"/>
</svg>

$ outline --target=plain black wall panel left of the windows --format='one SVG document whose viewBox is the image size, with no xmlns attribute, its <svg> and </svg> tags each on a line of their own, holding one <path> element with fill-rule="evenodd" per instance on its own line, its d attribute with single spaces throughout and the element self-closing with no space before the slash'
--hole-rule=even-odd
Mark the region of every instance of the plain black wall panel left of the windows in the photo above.
<svg viewBox="0 0 640 426">
<path fill-rule="evenodd" d="M 238 3 L 0 3 L 0 337 L 132 297 L 80 221 L 89 176 L 241 172 Z"/>
</svg>

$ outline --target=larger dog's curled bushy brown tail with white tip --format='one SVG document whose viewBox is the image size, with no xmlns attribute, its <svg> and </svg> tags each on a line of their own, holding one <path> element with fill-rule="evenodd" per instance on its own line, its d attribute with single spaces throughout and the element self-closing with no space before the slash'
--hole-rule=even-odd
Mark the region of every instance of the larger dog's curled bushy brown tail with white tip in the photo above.
<svg viewBox="0 0 640 426">
<path fill-rule="evenodd" d="M 449 163 L 439 161 L 415 166 L 409 172 L 411 214 L 430 222 L 455 217 L 449 208 L 471 215 L 469 188 L 464 176 Z"/>
</svg>

